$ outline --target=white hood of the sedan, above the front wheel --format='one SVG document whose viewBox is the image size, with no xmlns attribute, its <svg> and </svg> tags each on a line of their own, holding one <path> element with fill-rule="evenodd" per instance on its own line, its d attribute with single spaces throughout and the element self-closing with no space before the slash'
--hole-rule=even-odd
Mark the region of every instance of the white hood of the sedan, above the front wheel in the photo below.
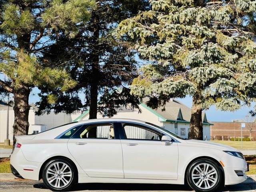
<svg viewBox="0 0 256 192">
<path fill-rule="evenodd" d="M 200 145 L 200 146 L 206 146 L 206 147 L 208 146 L 208 147 L 219 149 L 219 150 L 228 150 L 228 151 L 240 152 L 236 148 L 230 147 L 228 145 L 222 145 L 222 144 L 208 142 L 208 141 L 191 139 L 191 140 L 186 140 L 186 142 L 188 144 L 192 144 L 192 145 Z"/>
</svg>

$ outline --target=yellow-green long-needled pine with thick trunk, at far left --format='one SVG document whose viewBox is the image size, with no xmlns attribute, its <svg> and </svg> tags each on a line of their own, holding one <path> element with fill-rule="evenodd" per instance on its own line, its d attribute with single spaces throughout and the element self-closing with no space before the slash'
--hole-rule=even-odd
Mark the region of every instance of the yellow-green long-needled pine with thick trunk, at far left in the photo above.
<svg viewBox="0 0 256 192">
<path fill-rule="evenodd" d="M 73 38 L 79 25 L 88 21 L 93 0 L 2 0 L 0 10 L 1 89 L 14 95 L 14 136 L 28 133 L 30 90 L 47 87 L 58 92 L 73 88 L 76 82 L 64 66 L 41 60 L 42 51 L 54 43 L 50 36 Z M 48 95 L 48 102 L 54 97 Z M 14 140 L 15 145 L 15 140 Z M 13 145 L 13 146 L 14 146 Z"/>
</svg>

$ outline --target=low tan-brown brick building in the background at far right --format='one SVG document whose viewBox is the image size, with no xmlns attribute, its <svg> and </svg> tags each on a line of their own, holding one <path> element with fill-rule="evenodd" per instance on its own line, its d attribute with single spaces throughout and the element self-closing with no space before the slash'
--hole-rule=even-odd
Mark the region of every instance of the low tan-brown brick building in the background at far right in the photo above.
<svg viewBox="0 0 256 192">
<path fill-rule="evenodd" d="M 230 136 L 231 138 L 238 138 L 241 136 L 241 124 L 245 124 L 242 129 L 242 137 L 252 137 L 256 140 L 256 122 L 212 122 L 214 125 L 210 126 L 211 138 L 214 136 Z"/>
</svg>

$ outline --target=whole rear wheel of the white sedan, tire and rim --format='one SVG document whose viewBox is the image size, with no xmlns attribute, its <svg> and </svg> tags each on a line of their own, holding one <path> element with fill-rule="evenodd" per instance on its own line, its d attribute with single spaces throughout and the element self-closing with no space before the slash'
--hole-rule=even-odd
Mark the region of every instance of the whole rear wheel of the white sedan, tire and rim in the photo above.
<svg viewBox="0 0 256 192">
<path fill-rule="evenodd" d="M 42 178 L 47 188 L 52 191 L 66 191 L 76 181 L 76 169 L 65 158 L 50 160 L 42 172 Z"/>
</svg>

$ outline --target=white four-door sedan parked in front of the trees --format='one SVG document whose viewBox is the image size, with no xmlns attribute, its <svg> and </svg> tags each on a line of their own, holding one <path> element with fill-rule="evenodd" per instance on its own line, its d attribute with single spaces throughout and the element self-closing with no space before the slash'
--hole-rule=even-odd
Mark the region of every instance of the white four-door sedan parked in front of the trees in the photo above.
<svg viewBox="0 0 256 192">
<path fill-rule="evenodd" d="M 15 176 L 64 191 L 76 183 L 185 184 L 198 192 L 246 180 L 248 165 L 229 146 L 184 139 L 131 119 L 74 122 L 16 136 Z"/>
</svg>

